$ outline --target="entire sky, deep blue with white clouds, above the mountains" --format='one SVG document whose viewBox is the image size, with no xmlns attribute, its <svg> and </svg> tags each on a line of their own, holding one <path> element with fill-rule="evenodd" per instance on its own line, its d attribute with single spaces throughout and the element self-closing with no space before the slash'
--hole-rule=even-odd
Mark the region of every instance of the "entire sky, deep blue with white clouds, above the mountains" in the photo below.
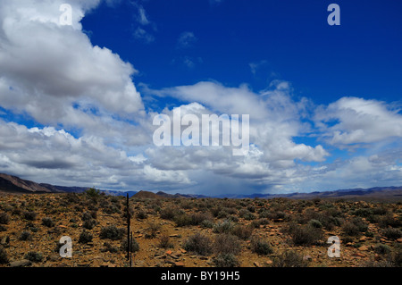
<svg viewBox="0 0 402 285">
<path fill-rule="evenodd" d="M 0 11 L 0 172 L 197 194 L 402 185 L 398 1 L 5 0 Z M 177 107 L 249 114 L 249 153 L 155 146 L 153 118 Z"/>
</svg>

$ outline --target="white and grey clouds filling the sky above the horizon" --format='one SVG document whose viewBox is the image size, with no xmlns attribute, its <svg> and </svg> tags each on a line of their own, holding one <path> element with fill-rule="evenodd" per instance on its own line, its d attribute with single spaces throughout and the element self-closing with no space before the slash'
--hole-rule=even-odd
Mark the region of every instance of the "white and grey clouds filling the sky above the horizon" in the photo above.
<svg viewBox="0 0 402 285">
<path fill-rule="evenodd" d="M 110 9 L 120 4 L 105 2 Z M 211 9 L 224 4 L 205 2 Z M 101 0 L 68 1 L 71 25 L 60 24 L 63 3 L 0 3 L 0 172 L 57 185 L 197 194 L 402 185 L 398 102 L 339 96 L 317 104 L 278 79 L 258 91 L 205 78 L 152 88 L 138 82 L 135 61 L 97 46 L 81 24 Z M 153 45 L 156 20 L 142 4 L 132 7 L 132 39 Z M 172 49 L 193 63 L 197 57 L 185 54 L 203 38 L 182 29 Z M 192 69 L 203 63 L 189 62 Z M 260 63 L 250 62 L 250 74 L 266 65 Z M 249 114 L 248 154 L 156 147 L 153 118 L 172 117 L 177 107 L 198 116 Z"/>
</svg>

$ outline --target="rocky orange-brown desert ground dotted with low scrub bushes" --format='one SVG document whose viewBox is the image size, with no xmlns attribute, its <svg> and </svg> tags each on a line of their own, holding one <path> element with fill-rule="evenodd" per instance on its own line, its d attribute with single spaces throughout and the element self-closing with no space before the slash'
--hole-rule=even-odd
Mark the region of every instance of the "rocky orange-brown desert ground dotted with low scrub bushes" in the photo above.
<svg viewBox="0 0 402 285">
<path fill-rule="evenodd" d="M 135 267 L 402 264 L 400 202 L 131 197 L 129 213 Z M 125 197 L 3 195 L 0 266 L 127 267 L 126 229 Z M 333 236 L 340 257 L 327 254 Z"/>
</svg>

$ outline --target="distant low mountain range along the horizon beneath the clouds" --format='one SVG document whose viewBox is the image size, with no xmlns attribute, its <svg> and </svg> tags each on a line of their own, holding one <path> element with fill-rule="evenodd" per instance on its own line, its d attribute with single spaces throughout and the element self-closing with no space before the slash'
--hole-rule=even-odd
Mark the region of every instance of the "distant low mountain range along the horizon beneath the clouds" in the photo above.
<svg viewBox="0 0 402 285">
<path fill-rule="evenodd" d="M 67 187 L 56 186 L 46 183 L 37 183 L 30 180 L 22 180 L 19 177 L 0 173 L 0 193 L 13 193 L 13 194 L 29 194 L 29 193 L 82 193 L 86 191 L 87 187 Z M 287 197 L 293 199 L 311 199 L 311 198 L 346 198 L 346 199 L 401 199 L 402 200 L 402 186 L 399 187 L 375 187 L 371 189 L 340 189 L 335 191 L 322 191 L 311 193 L 289 193 L 289 194 L 250 194 L 250 195 L 237 195 L 226 194 L 219 196 L 204 196 L 204 195 L 191 195 L 191 194 L 168 194 L 162 191 L 115 191 L 115 190 L 100 190 L 107 195 L 113 196 L 126 196 L 138 198 L 174 198 L 174 197 L 216 197 L 216 198 L 274 198 L 274 197 Z"/>
</svg>

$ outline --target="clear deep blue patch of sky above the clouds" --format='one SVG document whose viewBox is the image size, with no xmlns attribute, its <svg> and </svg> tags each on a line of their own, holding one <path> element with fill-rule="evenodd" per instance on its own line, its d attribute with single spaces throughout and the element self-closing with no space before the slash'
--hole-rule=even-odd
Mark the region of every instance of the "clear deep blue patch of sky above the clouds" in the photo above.
<svg viewBox="0 0 402 285">
<path fill-rule="evenodd" d="M 142 25 L 138 4 L 127 1 L 102 4 L 82 24 L 94 44 L 133 63 L 135 80 L 153 88 L 212 79 L 258 91 L 289 80 L 296 95 L 318 104 L 339 96 L 399 100 L 402 4 L 339 1 L 341 25 L 333 27 L 327 23 L 332 2 L 145 1 L 138 4 L 150 23 Z M 135 38 L 138 28 L 152 41 Z M 185 32 L 194 38 L 180 46 Z"/>
</svg>

